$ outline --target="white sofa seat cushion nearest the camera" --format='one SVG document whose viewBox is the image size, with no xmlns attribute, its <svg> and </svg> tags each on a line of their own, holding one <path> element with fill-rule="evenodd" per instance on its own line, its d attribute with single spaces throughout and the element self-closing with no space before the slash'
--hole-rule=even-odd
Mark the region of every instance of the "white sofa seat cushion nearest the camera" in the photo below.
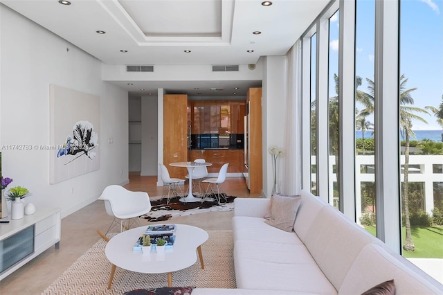
<svg viewBox="0 0 443 295">
<path fill-rule="evenodd" d="M 303 245 L 237 241 L 234 261 L 238 288 L 336 294 Z"/>
</svg>

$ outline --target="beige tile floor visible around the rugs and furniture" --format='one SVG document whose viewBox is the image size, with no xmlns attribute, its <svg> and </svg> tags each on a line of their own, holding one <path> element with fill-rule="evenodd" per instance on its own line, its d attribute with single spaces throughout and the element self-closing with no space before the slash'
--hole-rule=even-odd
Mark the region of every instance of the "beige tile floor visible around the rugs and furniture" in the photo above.
<svg viewBox="0 0 443 295">
<path fill-rule="evenodd" d="M 249 194 L 243 177 L 228 177 L 223 187 L 228 195 L 260 197 Z M 141 177 L 134 173 L 129 175 L 129 184 L 125 188 L 145 191 L 150 196 L 161 195 L 163 192 L 163 187 L 156 186 L 156 177 Z M 171 222 L 199 226 L 207 231 L 230 230 L 232 217 L 233 212 L 209 212 L 175 217 Z M 99 240 L 96 230 L 106 232 L 111 220 L 112 217 L 106 214 L 102 201 L 93 202 L 62 219 L 60 249 L 51 247 L 1 280 L 0 294 L 40 294 Z"/>
</svg>

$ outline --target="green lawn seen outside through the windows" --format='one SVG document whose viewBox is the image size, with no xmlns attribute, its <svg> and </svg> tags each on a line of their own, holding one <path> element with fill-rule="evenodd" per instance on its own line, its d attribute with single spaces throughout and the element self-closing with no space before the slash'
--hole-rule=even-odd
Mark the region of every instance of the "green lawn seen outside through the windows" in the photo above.
<svg viewBox="0 0 443 295">
<path fill-rule="evenodd" d="M 375 228 L 365 227 L 365 230 L 375 235 Z M 402 228 L 403 241 L 406 228 Z M 403 251 L 407 258 L 443 258 L 443 226 L 413 226 L 411 228 L 415 252 Z"/>
</svg>

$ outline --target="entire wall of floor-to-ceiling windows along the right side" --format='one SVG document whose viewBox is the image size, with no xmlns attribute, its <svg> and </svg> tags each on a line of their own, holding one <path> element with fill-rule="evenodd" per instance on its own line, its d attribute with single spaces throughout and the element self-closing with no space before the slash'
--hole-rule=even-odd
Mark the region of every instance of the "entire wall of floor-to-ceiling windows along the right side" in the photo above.
<svg viewBox="0 0 443 295">
<path fill-rule="evenodd" d="M 338 20 L 347 19 L 354 5 L 355 43 L 342 43 Z M 316 159 L 309 161 L 316 174 L 311 190 L 315 186 L 343 211 L 349 208 L 343 203 L 355 201 L 355 215 L 345 214 L 411 261 L 443 259 L 443 1 L 341 1 L 340 13 L 337 8 L 338 1 L 329 3 L 311 35 L 302 36 L 311 44 L 303 53 L 310 64 L 302 69 L 311 80 L 302 89 L 311 105 L 304 116 L 312 119 L 311 137 L 304 139 L 311 140 L 310 158 L 315 153 Z M 341 89 L 352 84 L 349 58 L 355 66 L 354 134 L 343 132 L 342 121 L 350 120 L 340 116 L 352 111 L 343 113 L 350 95 Z M 340 167 L 349 153 L 338 159 L 348 145 L 355 150 L 352 171 Z M 355 194 L 340 186 L 351 178 Z"/>
</svg>

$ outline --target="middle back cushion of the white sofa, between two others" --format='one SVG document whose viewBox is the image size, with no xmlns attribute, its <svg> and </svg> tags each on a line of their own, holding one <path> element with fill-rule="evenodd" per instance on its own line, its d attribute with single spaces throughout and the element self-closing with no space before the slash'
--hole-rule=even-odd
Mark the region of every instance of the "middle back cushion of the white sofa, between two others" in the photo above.
<svg viewBox="0 0 443 295">
<path fill-rule="evenodd" d="M 332 285 L 340 289 L 354 259 L 371 240 L 370 234 L 362 231 L 355 222 L 336 208 L 326 206 L 309 227 L 305 245 Z"/>
</svg>

